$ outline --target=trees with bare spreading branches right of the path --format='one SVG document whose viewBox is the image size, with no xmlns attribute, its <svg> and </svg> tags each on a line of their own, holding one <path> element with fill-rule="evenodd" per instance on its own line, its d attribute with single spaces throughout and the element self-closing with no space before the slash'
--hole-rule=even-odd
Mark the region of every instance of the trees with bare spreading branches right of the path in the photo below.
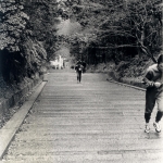
<svg viewBox="0 0 163 163">
<path fill-rule="evenodd" d="M 118 64 L 136 55 L 155 62 L 162 46 L 161 3 L 161 0 L 71 0 L 65 5 L 70 8 L 70 18 L 84 27 L 78 40 L 85 39 L 78 48 L 85 47 L 85 60 L 93 64 L 114 60 Z"/>
</svg>

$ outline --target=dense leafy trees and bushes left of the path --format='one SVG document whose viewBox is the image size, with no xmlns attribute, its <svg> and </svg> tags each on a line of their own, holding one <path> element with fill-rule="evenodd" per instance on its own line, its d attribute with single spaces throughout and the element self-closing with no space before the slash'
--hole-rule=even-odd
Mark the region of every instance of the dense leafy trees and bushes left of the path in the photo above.
<svg viewBox="0 0 163 163">
<path fill-rule="evenodd" d="M 55 0 L 0 2 L 0 90 L 42 73 L 57 47 L 58 11 Z"/>
</svg>

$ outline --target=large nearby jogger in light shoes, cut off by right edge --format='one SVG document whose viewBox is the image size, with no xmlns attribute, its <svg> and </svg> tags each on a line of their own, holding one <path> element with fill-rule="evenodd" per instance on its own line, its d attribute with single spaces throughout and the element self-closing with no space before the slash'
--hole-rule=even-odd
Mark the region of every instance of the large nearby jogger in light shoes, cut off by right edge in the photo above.
<svg viewBox="0 0 163 163">
<path fill-rule="evenodd" d="M 145 111 L 145 120 L 146 127 L 145 131 L 150 133 L 150 118 L 155 102 L 158 103 L 158 113 L 155 116 L 155 122 L 153 126 L 156 133 L 161 131 L 160 121 L 163 115 L 163 54 L 161 54 L 158 59 L 158 64 L 153 64 L 149 66 L 147 70 L 146 76 L 143 77 L 143 82 L 147 86 L 146 90 L 146 111 Z"/>
</svg>

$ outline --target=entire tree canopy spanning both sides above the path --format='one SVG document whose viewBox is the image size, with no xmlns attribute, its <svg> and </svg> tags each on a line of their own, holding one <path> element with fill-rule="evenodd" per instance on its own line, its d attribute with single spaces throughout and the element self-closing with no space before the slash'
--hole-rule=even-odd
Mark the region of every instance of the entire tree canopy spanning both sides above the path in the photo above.
<svg viewBox="0 0 163 163">
<path fill-rule="evenodd" d="M 134 58 L 155 62 L 162 46 L 161 0 L 2 0 L 0 83 L 34 78 L 61 46 L 88 64 L 128 65 Z M 83 30 L 58 36 L 63 20 Z M 70 46 L 67 46 L 67 43 Z M 121 66 L 120 66 L 121 67 Z M 122 66 L 123 67 L 123 66 Z M 1 85 L 3 87 L 3 85 Z"/>
</svg>

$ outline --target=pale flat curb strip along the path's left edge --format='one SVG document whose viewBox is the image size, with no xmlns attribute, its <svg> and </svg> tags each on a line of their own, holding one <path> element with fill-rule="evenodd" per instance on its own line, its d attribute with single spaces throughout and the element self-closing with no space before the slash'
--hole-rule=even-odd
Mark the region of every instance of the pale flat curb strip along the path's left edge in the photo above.
<svg viewBox="0 0 163 163">
<path fill-rule="evenodd" d="M 20 108 L 18 112 L 16 112 L 11 117 L 11 120 L 0 129 L 0 160 L 2 160 L 16 131 L 18 130 L 28 111 L 33 106 L 46 84 L 47 82 L 42 82 L 36 88 L 35 92 L 29 97 L 29 99 Z"/>
</svg>

